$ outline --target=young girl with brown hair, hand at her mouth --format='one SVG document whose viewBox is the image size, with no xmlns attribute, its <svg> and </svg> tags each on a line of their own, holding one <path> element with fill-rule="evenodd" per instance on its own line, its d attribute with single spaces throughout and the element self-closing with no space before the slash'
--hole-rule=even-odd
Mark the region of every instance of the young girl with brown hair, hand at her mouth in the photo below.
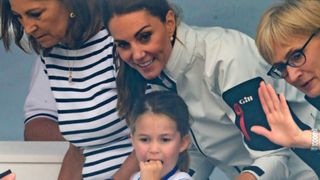
<svg viewBox="0 0 320 180">
<path fill-rule="evenodd" d="M 192 179 L 187 173 L 189 112 L 176 93 L 157 91 L 135 103 L 129 114 L 131 137 L 140 172 L 137 180 Z"/>
</svg>

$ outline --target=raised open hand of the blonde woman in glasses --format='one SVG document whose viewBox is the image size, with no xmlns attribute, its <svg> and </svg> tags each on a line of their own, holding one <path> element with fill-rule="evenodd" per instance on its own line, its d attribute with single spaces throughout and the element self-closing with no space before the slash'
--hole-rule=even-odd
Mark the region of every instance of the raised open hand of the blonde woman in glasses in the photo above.
<svg viewBox="0 0 320 180">
<path fill-rule="evenodd" d="M 271 130 L 253 126 L 251 131 L 282 146 L 301 147 L 303 133 L 294 122 L 284 95 L 278 96 L 273 87 L 264 82 L 260 83 L 258 94 Z"/>
</svg>

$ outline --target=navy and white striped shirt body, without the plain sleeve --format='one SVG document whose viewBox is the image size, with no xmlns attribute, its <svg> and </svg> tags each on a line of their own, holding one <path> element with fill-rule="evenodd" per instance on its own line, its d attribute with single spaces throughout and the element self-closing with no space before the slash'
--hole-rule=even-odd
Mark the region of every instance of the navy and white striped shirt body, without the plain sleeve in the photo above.
<svg viewBox="0 0 320 180">
<path fill-rule="evenodd" d="M 111 178 L 132 151 L 129 129 L 116 110 L 112 46 L 110 34 L 101 30 L 78 49 L 58 45 L 41 56 L 60 131 L 84 149 L 84 179 Z"/>
</svg>

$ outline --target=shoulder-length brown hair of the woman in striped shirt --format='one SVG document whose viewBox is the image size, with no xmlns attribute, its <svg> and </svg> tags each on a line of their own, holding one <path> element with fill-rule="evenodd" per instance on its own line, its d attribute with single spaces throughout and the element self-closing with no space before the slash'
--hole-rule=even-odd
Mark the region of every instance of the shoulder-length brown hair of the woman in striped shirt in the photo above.
<svg viewBox="0 0 320 180">
<path fill-rule="evenodd" d="M 67 11 L 74 13 L 75 18 L 70 18 L 67 33 L 66 42 L 70 48 L 76 48 L 81 46 L 83 42 L 88 40 L 94 35 L 102 26 L 100 7 L 101 0 L 57 0 L 64 4 Z M 11 10 L 9 0 L 2 0 L 0 5 L 1 10 L 1 36 L 3 44 L 6 50 L 10 49 L 12 38 L 17 46 L 19 46 L 25 52 L 26 47 L 23 47 L 21 40 L 24 36 L 24 28 L 18 19 L 14 16 Z M 59 13 L 59 12 L 57 12 Z M 12 32 L 13 34 L 12 34 Z M 28 37 L 29 43 L 32 49 L 36 53 L 40 53 L 40 50 L 44 49 L 33 38 Z"/>
</svg>

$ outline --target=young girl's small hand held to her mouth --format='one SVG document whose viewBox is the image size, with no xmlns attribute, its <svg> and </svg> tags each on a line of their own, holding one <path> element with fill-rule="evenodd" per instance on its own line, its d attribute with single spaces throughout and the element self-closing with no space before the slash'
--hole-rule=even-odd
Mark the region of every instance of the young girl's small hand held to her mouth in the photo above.
<svg viewBox="0 0 320 180">
<path fill-rule="evenodd" d="M 163 168 L 161 161 L 140 162 L 141 180 L 160 180 Z"/>
</svg>

